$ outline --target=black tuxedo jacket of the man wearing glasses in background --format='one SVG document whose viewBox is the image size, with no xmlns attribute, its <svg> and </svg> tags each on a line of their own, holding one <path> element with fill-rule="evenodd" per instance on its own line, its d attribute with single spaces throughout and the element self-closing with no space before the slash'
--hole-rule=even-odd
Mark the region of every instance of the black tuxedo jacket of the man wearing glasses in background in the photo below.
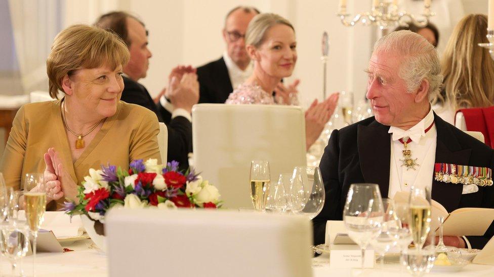
<svg viewBox="0 0 494 277">
<path fill-rule="evenodd" d="M 223 58 L 197 68 L 199 103 L 224 104 L 233 87 Z"/>
</svg>

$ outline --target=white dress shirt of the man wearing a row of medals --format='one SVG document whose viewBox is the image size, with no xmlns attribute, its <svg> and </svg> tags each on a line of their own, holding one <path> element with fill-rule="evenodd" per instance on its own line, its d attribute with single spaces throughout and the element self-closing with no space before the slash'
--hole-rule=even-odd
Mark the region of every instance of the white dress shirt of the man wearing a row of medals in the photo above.
<svg viewBox="0 0 494 277">
<path fill-rule="evenodd" d="M 412 186 L 418 188 L 432 187 L 436 158 L 436 126 L 433 125 L 425 133 L 425 130 L 431 126 L 432 122 L 434 122 L 434 114 L 431 108 L 424 119 L 407 131 L 393 126 L 389 128 L 388 133 L 393 134 L 391 136 L 389 198 L 393 198 L 397 191 L 409 191 Z M 404 149 L 404 145 L 399 139 L 403 138 L 403 141 L 406 141 L 408 137 L 412 141 L 407 144 L 407 149 L 411 151 L 411 158 L 417 158 L 416 163 L 418 165 L 415 166 L 415 170 L 402 166 L 403 162 L 401 160 L 404 157 L 401 151 Z"/>
</svg>

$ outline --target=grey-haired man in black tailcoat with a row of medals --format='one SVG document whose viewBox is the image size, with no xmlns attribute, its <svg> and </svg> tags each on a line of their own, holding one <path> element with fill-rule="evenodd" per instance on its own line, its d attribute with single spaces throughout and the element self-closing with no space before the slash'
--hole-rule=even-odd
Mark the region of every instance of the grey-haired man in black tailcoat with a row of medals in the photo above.
<svg viewBox="0 0 494 277">
<path fill-rule="evenodd" d="M 367 72 L 366 97 L 375 117 L 331 134 L 319 165 L 326 197 L 313 219 L 314 244 L 324 243 L 327 220 L 343 219 L 347 193 L 354 183 L 378 184 L 383 198 L 393 198 L 411 186 L 431 186 L 432 199 L 448 212 L 461 207 L 493 208 L 492 186 L 434 178 L 436 163 L 494 167 L 491 148 L 432 112 L 429 96 L 442 83 L 434 47 L 416 33 L 392 32 L 376 42 Z M 493 234 L 491 224 L 484 236 L 445 237 L 444 242 L 481 249 Z"/>
</svg>

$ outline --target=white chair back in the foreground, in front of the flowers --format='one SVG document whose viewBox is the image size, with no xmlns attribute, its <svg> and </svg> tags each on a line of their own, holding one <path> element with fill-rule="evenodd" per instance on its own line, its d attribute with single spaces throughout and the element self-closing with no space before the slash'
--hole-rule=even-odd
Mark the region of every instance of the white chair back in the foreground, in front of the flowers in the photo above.
<svg viewBox="0 0 494 277">
<path fill-rule="evenodd" d="M 312 276 L 311 227 L 302 216 L 112 209 L 105 221 L 111 277 Z"/>
</svg>

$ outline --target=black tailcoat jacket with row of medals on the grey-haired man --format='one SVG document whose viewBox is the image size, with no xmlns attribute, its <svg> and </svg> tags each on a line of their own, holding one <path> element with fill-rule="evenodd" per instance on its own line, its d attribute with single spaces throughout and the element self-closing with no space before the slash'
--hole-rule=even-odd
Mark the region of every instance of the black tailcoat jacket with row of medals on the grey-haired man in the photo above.
<svg viewBox="0 0 494 277">
<path fill-rule="evenodd" d="M 437 130 L 435 162 L 493 168 L 493 151 L 484 143 L 446 123 L 434 114 Z M 391 155 L 389 126 L 374 117 L 331 134 L 319 168 L 326 198 L 322 211 L 313 219 L 314 245 L 324 243 L 326 220 L 342 220 L 348 190 L 354 183 L 375 183 L 388 196 Z M 448 212 L 461 207 L 494 208 L 494 187 L 479 187 L 463 194 L 462 184 L 433 181 L 432 198 Z M 482 237 L 468 237 L 473 248 L 482 249 L 494 234 L 491 224 Z"/>
</svg>

